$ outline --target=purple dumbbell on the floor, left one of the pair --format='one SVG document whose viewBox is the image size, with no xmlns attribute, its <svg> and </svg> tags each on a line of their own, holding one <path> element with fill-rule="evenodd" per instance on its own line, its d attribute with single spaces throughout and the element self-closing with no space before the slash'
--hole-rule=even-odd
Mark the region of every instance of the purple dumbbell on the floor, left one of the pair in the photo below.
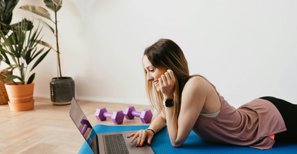
<svg viewBox="0 0 297 154">
<path fill-rule="evenodd" d="M 115 124 L 122 124 L 124 121 L 124 113 L 122 110 L 115 110 L 113 113 L 108 113 L 106 108 L 97 108 L 95 116 L 100 121 L 105 120 L 106 117 L 111 118 Z"/>
</svg>

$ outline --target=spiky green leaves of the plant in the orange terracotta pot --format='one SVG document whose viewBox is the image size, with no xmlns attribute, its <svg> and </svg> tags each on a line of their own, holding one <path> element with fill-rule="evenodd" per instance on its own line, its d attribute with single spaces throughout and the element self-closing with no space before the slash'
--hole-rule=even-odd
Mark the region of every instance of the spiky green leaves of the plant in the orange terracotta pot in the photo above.
<svg viewBox="0 0 297 154">
<path fill-rule="evenodd" d="M 16 66 L 19 70 L 19 77 L 13 75 L 8 77 L 7 80 L 14 81 L 14 79 L 19 79 L 21 80 L 21 84 L 25 83 L 25 79 L 29 79 L 29 83 L 32 82 L 35 74 L 32 74 L 29 78 L 26 76 L 31 74 L 30 71 L 40 64 L 51 50 L 51 48 L 45 50 L 44 48 L 50 45 L 40 41 L 42 28 L 39 28 L 39 25 L 34 29 L 27 30 L 27 28 L 28 24 L 23 20 L 21 23 L 18 23 L 17 30 L 10 31 L 9 36 L 4 35 L 3 32 L 0 31 L 1 62 L 5 61 L 9 66 Z M 39 50 L 38 44 L 43 45 L 44 48 Z M 10 60 L 12 64 L 10 64 L 10 61 L 8 60 Z"/>
</svg>

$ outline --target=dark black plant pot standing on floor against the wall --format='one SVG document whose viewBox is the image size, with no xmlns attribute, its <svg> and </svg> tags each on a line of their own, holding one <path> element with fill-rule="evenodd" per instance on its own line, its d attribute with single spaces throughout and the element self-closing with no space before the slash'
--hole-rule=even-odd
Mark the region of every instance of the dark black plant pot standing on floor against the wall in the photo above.
<svg viewBox="0 0 297 154">
<path fill-rule="evenodd" d="M 75 81 L 72 77 L 53 77 L 50 81 L 50 99 L 54 105 L 68 105 L 75 97 Z"/>
</svg>

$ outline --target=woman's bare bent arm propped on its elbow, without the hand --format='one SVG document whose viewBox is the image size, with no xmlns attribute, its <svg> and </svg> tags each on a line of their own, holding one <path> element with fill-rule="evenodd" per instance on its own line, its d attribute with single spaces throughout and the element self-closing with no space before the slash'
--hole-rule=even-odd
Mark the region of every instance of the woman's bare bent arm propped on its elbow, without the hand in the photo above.
<svg viewBox="0 0 297 154">
<path fill-rule="evenodd" d="M 165 107 L 166 123 L 172 146 L 181 146 L 191 133 L 209 93 L 209 86 L 200 77 L 187 81 L 182 90 L 182 102 L 178 122 L 173 117 L 173 107 Z M 163 93 L 164 95 L 164 93 Z M 166 98 L 166 95 L 164 95 Z"/>
</svg>

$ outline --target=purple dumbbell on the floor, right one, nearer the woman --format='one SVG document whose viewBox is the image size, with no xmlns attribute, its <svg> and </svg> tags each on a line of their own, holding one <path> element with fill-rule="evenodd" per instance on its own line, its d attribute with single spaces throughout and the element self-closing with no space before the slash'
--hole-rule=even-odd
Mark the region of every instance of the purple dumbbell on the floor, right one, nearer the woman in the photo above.
<svg viewBox="0 0 297 154">
<path fill-rule="evenodd" d="M 133 119 L 134 116 L 140 117 L 144 124 L 151 122 L 151 118 L 153 117 L 151 110 L 145 109 L 142 110 L 142 112 L 138 112 L 135 110 L 134 106 L 127 106 L 124 110 L 124 115 L 126 119 Z"/>
</svg>

